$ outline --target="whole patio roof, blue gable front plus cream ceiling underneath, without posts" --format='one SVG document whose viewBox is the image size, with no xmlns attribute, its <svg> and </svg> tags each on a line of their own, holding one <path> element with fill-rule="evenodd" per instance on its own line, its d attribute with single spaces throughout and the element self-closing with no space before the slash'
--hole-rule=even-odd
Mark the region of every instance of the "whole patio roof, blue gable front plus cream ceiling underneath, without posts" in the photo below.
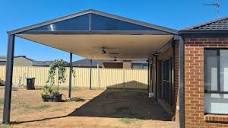
<svg viewBox="0 0 228 128">
<path fill-rule="evenodd" d="M 95 10 L 11 31 L 19 37 L 90 59 L 146 59 L 176 31 Z"/>
</svg>

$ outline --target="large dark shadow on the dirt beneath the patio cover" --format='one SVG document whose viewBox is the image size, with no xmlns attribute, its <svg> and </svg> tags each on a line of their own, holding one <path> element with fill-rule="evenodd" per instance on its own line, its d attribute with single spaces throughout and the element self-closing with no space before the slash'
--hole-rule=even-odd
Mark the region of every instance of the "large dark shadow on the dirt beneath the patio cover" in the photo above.
<svg viewBox="0 0 228 128">
<path fill-rule="evenodd" d="M 122 84 L 124 87 L 126 85 L 130 84 Z M 121 84 L 113 87 L 121 88 Z M 129 89 L 129 86 L 127 89 L 113 87 L 106 89 L 69 116 L 171 120 L 171 116 L 159 104 L 148 98 L 147 90 Z"/>
</svg>

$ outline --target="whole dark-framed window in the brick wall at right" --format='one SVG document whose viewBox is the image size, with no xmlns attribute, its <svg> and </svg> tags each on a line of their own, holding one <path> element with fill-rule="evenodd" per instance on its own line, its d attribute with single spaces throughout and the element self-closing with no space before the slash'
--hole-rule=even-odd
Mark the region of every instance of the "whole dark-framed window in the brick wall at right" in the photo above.
<svg viewBox="0 0 228 128">
<path fill-rule="evenodd" d="M 205 50 L 205 112 L 228 114 L 228 49 Z"/>
</svg>

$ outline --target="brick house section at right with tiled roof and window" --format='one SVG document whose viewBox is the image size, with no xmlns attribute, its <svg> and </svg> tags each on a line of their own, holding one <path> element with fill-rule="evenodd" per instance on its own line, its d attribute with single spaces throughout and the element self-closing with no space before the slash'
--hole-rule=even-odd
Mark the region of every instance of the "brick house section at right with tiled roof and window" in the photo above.
<svg viewBox="0 0 228 128">
<path fill-rule="evenodd" d="M 180 35 L 185 40 L 185 127 L 228 127 L 228 18 Z"/>
</svg>

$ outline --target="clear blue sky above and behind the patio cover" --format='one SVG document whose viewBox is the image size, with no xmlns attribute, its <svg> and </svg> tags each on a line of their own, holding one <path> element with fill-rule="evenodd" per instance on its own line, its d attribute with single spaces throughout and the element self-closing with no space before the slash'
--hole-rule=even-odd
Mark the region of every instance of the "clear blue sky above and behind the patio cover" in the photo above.
<svg viewBox="0 0 228 128">
<path fill-rule="evenodd" d="M 183 29 L 228 16 L 228 0 L 216 9 L 215 0 L 0 0 L 0 56 L 6 55 L 9 30 L 86 9 L 96 9 L 174 29 Z M 69 59 L 69 53 L 16 38 L 15 55 L 36 60 Z M 74 60 L 80 59 L 74 56 Z"/>
</svg>

